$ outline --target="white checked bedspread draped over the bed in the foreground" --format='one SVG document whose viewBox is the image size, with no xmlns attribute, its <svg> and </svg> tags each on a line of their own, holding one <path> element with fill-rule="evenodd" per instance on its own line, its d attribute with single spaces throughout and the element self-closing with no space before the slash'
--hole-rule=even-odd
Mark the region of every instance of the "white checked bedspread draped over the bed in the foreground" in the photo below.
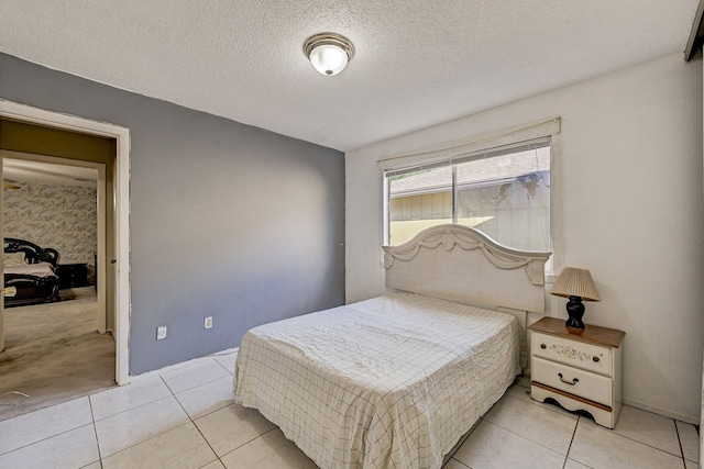
<svg viewBox="0 0 704 469">
<path fill-rule="evenodd" d="M 233 390 L 321 468 L 440 468 L 522 348 L 509 314 L 392 293 L 251 330 Z"/>
</svg>

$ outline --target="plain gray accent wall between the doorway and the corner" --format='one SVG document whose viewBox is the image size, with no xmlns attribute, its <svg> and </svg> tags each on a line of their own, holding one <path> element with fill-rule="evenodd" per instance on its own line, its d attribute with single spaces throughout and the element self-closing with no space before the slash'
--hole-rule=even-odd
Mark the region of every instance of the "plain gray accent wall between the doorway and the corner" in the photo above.
<svg viewBox="0 0 704 469">
<path fill-rule="evenodd" d="M 342 153 L 6 54 L 0 98 L 130 130 L 132 375 L 344 303 Z"/>
</svg>

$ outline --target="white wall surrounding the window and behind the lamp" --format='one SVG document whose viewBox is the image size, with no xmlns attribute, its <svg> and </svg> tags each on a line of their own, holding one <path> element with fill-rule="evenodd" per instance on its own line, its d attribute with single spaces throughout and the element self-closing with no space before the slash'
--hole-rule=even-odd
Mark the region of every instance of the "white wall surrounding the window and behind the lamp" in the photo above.
<svg viewBox="0 0 704 469">
<path fill-rule="evenodd" d="M 681 55 L 349 152 L 346 301 L 384 291 L 377 159 L 556 115 L 557 271 L 588 268 L 602 302 L 585 322 L 627 333 L 624 402 L 698 423 L 702 65 Z M 566 317 L 566 300 L 548 299 L 548 315 Z"/>
</svg>

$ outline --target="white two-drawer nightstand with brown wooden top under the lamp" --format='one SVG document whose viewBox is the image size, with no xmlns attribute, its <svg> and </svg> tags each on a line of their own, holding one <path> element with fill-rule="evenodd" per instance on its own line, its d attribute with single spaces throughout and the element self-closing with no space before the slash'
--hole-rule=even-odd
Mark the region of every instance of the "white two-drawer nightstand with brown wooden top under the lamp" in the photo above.
<svg viewBox="0 0 704 469">
<path fill-rule="evenodd" d="M 530 397 L 551 398 L 570 411 L 586 411 L 614 428 L 622 406 L 622 348 L 625 332 L 586 325 L 566 331 L 564 320 L 543 317 L 528 326 Z"/>
</svg>

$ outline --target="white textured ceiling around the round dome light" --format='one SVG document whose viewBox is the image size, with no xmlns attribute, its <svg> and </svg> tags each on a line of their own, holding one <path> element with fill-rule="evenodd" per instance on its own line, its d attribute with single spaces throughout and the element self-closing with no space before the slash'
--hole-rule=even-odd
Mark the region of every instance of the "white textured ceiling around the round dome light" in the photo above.
<svg viewBox="0 0 704 469">
<path fill-rule="evenodd" d="M 683 53 L 697 2 L 0 0 L 0 52 L 349 150 Z M 302 53 L 327 31 L 334 77 Z"/>
</svg>

